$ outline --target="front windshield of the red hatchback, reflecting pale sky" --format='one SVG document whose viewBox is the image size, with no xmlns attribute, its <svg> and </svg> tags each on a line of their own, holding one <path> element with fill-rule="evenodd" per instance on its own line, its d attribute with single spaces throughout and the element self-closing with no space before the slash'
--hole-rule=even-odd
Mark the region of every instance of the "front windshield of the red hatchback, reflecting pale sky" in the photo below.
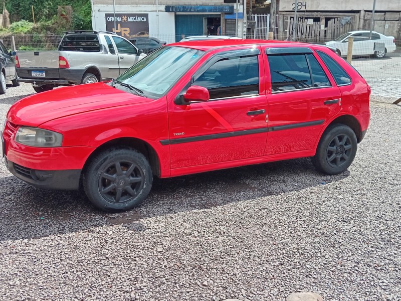
<svg viewBox="0 0 401 301">
<path fill-rule="evenodd" d="M 159 98 L 202 56 L 204 52 L 183 47 L 162 47 L 140 60 L 117 81 Z"/>
</svg>

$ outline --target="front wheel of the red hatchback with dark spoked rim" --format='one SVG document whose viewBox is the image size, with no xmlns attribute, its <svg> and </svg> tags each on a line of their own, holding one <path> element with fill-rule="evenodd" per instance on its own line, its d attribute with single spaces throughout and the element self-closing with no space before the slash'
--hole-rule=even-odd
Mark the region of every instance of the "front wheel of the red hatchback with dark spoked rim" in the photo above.
<svg viewBox="0 0 401 301">
<path fill-rule="evenodd" d="M 130 169 L 132 172 L 127 175 Z M 112 147 L 89 163 L 83 185 L 93 205 L 104 211 L 119 212 L 142 203 L 152 181 L 152 170 L 141 153 L 132 148 Z"/>
</svg>

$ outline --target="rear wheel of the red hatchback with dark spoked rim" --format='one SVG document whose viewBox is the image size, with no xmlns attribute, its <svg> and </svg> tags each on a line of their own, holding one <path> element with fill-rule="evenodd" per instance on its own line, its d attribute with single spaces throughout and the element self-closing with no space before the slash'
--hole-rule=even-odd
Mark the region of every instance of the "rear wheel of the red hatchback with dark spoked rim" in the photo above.
<svg viewBox="0 0 401 301">
<path fill-rule="evenodd" d="M 312 163 L 324 174 L 341 174 L 354 160 L 357 145 L 356 135 L 349 126 L 330 125 L 320 138 Z"/>
</svg>

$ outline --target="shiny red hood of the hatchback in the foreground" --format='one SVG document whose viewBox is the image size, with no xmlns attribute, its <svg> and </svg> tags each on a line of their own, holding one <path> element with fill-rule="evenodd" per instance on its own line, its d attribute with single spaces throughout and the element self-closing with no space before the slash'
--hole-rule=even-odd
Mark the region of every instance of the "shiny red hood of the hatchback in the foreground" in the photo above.
<svg viewBox="0 0 401 301">
<path fill-rule="evenodd" d="M 34 94 L 16 102 L 7 119 L 14 124 L 39 126 L 57 118 L 152 99 L 124 92 L 101 82 Z"/>
</svg>

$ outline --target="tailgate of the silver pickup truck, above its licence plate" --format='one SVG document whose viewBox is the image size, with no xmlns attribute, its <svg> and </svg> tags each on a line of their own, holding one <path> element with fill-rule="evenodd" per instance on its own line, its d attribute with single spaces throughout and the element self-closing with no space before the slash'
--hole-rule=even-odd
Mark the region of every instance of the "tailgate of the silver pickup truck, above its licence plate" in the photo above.
<svg viewBox="0 0 401 301">
<path fill-rule="evenodd" d="M 59 68 L 58 51 L 18 51 L 20 68 Z"/>
</svg>

